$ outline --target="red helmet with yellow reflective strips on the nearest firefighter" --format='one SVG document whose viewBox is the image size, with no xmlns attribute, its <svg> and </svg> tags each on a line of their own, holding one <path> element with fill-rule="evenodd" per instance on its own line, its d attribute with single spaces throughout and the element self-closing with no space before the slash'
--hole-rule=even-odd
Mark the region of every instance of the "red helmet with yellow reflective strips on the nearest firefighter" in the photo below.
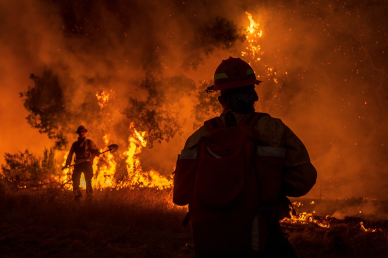
<svg viewBox="0 0 388 258">
<path fill-rule="evenodd" d="M 214 85 L 208 87 L 206 92 L 238 88 L 262 83 L 256 79 L 252 67 L 240 58 L 229 57 L 222 60 L 214 73 Z"/>
</svg>

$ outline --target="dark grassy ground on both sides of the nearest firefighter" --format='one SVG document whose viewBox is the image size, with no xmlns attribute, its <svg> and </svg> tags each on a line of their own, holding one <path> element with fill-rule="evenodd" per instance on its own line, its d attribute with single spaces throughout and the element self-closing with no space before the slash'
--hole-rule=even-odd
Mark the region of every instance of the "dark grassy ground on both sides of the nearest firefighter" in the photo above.
<svg viewBox="0 0 388 258">
<path fill-rule="evenodd" d="M 0 257 L 194 257 L 169 190 L 95 191 L 78 203 L 68 191 L 0 197 Z M 387 219 L 316 218 L 330 227 L 282 224 L 301 258 L 388 256 Z"/>
</svg>

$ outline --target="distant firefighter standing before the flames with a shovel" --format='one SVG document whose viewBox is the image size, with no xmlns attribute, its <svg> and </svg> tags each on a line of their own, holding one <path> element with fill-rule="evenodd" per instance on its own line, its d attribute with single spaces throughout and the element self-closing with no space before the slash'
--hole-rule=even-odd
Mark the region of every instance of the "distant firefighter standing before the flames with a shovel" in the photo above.
<svg viewBox="0 0 388 258">
<path fill-rule="evenodd" d="M 93 177 L 93 159 L 95 156 L 99 155 L 98 148 L 96 144 L 86 138 L 86 128 L 83 125 L 80 125 L 76 131 L 79 135 L 77 141 L 71 145 L 70 153 L 66 159 L 65 167 L 70 166 L 71 161 L 73 159 L 73 154 L 75 153 L 74 158 L 74 171 L 71 176 L 71 180 L 73 181 L 73 192 L 74 198 L 79 200 L 82 196 L 80 190 L 80 180 L 81 173 L 85 176 L 86 182 L 86 195 L 90 199 L 92 196 L 92 177 Z"/>
</svg>

